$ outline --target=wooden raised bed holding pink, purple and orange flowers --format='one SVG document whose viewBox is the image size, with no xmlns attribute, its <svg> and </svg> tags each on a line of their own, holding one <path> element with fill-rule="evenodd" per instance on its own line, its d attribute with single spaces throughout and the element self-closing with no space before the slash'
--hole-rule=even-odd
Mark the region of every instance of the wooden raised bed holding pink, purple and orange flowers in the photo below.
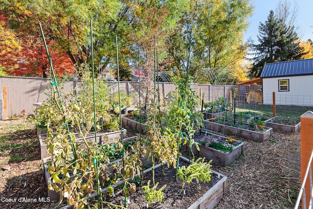
<svg viewBox="0 0 313 209">
<path fill-rule="evenodd" d="M 213 160 L 214 163 L 227 166 L 231 163 L 233 163 L 240 155 L 244 153 L 244 142 L 234 140 L 233 144 L 235 145 L 232 148 L 231 152 L 223 152 L 221 150 L 209 147 L 209 146 L 202 146 L 199 143 L 199 140 L 201 140 L 201 137 L 204 135 L 209 135 L 211 137 L 214 137 L 216 139 L 219 139 L 220 141 L 225 141 L 227 138 L 221 137 L 215 134 L 209 134 L 207 131 L 202 130 L 201 134 L 196 134 L 194 136 L 195 142 L 198 144 L 200 151 L 196 149 L 196 146 L 192 145 L 192 151 L 195 155 L 199 155 L 200 157 L 205 157 L 207 160 Z M 228 139 L 227 139 L 228 140 Z M 187 143 L 183 146 L 183 148 L 188 151 L 189 143 Z"/>
</svg>

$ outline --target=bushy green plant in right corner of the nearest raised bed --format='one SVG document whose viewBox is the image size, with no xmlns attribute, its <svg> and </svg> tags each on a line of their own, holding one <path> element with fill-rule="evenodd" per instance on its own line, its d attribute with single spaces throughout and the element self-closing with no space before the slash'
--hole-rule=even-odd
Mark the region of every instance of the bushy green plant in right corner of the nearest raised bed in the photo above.
<svg viewBox="0 0 313 209">
<path fill-rule="evenodd" d="M 179 179 L 183 182 L 182 189 L 186 185 L 186 183 L 190 184 L 194 179 L 197 179 L 201 182 L 209 182 L 211 181 L 211 163 L 204 162 L 205 158 L 198 158 L 196 162 L 193 162 L 186 166 L 181 166 L 178 169 Z"/>
</svg>

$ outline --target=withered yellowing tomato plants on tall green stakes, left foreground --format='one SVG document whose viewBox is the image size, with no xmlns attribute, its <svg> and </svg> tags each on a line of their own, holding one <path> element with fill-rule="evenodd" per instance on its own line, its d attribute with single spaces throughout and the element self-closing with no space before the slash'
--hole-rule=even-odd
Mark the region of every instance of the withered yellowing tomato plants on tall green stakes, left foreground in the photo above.
<svg viewBox="0 0 313 209">
<path fill-rule="evenodd" d="M 48 166 L 51 175 L 48 189 L 60 193 L 60 202 L 64 197 L 75 208 L 86 205 L 98 207 L 89 201 L 88 196 L 101 191 L 104 186 L 124 179 L 124 193 L 133 191 L 134 185 L 127 183 L 128 178 L 140 171 L 138 145 L 128 144 L 123 147 L 120 142 L 101 146 L 86 139 L 90 131 L 118 128 L 118 118 L 110 114 L 112 103 L 107 84 L 99 77 L 95 79 L 95 114 L 94 127 L 93 85 L 89 70 L 82 70 L 80 89 L 77 96 L 73 93 L 57 92 L 52 84 L 50 97 L 43 104 L 36 118 L 38 123 L 45 121 L 47 127 L 47 151 L 52 156 Z M 59 89 L 62 89 L 61 87 Z M 82 138 L 83 142 L 77 142 Z M 107 149 L 107 150 L 105 150 Z M 112 157 L 122 157 L 123 164 L 117 164 L 115 174 L 108 172 L 107 163 Z M 99 178 L 100 176 L 100 178 Z M 101 182 L 100 182 L 101 179 Z M 101 198 L 101 205 L 105 201 Z"/>
</svg>

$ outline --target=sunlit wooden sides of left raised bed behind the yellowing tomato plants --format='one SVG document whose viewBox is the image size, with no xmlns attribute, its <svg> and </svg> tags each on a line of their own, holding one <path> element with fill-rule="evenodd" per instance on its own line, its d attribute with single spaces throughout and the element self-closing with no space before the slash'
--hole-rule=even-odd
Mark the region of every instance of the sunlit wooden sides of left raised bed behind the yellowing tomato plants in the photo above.
<svg viewBox="0 0 313 209">
<path fill-rule="evenodd" d="M 123 139 L 125 139 L 127 135 L 127 130 L 123 128 L 122 131 L 123 131 Z M 120 134 L 121 134 L 121 131 L 99 133 L 97 134 L 97 143 L 102 144 L 103 141 L 106 141 L 106 142 L 116 141 L 120 138 Z M 44 158 L 50 157 L 50 155 L 47 152 L 47 144 L 45 143 L 46 134 L 38 135 L 38 139 L 39 139 L 41 160 L 43 160 Z M 88 136 L 86 137 L 86 139 L 92 142 L 95 142 L 94 135 Z M 82 138 L 78 138 L 78 139 L 75 139 L 75 141 L 79 143 L 79 142 L 83 142 L 84 140 Z"/>
</svg>

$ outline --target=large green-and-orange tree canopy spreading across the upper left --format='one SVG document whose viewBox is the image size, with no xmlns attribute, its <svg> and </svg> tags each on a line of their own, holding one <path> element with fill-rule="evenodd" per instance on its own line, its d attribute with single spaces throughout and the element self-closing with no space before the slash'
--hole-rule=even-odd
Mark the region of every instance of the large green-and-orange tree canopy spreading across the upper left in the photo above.
<svg viewBox="0 0 313 209">
<path fill-rule="evenodd" d="M 151 47 L 153 41 L 146 45 L 146 35 L 154 33 L 160 35 L 157 44 L 162 46 L 166 38 L 163 35 L 176 26 L 180 11 L 188 0 L 2 2 L 8 22 L 17 33 L 38 37 L 37 25 L 41 23 L 46 37 L 56 42 L 58 51 L 66 52 L 73 65 L 78 67 L 91 63 L 89 21 L 92 20 L 94 63 L 101 62 L 103 69 L 116 64 L 115 36 L 118 36 L 120 70 L 129 70 L 128 62 L 137 57 L 132 53 L 134 42 L 142 41 L 142 51 L 148 54 L 145 49 Z"/>
</svg>

